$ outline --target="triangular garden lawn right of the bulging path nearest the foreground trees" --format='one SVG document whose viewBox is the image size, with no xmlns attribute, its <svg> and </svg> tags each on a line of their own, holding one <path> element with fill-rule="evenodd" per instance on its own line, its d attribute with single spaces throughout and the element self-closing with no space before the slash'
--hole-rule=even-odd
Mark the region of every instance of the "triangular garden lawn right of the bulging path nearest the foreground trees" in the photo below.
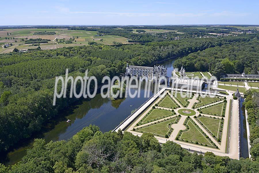
<svg viewBox="0 0 259 173">
<path fill-rule="evenodd" d="M 202 134 L 194 122 L 187 119 L 187 129 L 180 135 L 180 140 L 185 142 L 198 142 L 199 144 L 212 146 L 211 142 Z"/>
</svg>

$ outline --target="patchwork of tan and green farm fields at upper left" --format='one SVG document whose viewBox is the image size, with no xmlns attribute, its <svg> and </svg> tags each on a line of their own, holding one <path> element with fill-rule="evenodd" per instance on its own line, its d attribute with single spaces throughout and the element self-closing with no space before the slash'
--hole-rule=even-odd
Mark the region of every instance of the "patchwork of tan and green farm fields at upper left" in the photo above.
<svg viewBox="0 0 259 173">
<path fill-rule="evenodd" d="M 8 32 L 8 35 L 7 35 Z M 38 32 L 55 32 L 53 35 L 35 35 Z M 68 30 L 68 29 L 4 29 L 0 31 L 0 46 L 7 43 L 12 43 L 13 46 L 8 48 L 0 48 L 0 53 L 12 52 L 14 48 L 19 50 L 33 49 L 37 47 L 30 47 L 30 44 L 24 44 L 27 39 L 49 39 L 48 43 L 40 43 L 43 50 L 56 49 L 61 47 L 88 45 L 89 42 L 96 42 L 104 45 L 113 45 L 117 43 L 129 43 L 127 38 L 116 35 L 95 36 L 97 31 L 84 30 Z M 72 43 L 59 43 L 59 40 L 67 41 L 74 38 Z M 58 41 L 56 41 L 56 39 Z"/>
</svg>

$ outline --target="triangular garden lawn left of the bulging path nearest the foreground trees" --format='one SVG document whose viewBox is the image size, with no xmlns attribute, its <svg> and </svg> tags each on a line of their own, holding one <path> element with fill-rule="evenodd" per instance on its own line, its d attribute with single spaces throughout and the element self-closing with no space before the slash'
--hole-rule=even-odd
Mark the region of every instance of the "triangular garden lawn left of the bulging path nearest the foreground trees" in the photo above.
<svg viewBox="0 0 259 173">
<path fill-rule="evenodd" d="M 165 137 L 166 134 L 170 133 L 170 131 L 173 131 L 170 126 L 176 122 L 176 119 L 177 118 L 175 117 L 169 120 L 165 120 L 164 122 L 143 126 L 141 128 L 137 128 L 136 131 L 140 133 L 148 132 L 154 134 L 155 136 Z"/>
</svg>

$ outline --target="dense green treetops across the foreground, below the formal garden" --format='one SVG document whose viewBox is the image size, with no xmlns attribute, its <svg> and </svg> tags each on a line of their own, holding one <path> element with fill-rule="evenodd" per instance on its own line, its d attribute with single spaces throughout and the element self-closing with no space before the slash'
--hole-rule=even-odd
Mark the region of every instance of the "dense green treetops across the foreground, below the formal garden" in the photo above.
<svg viewBox="0 0 259 173">
<path fill-rule="evenodd" d="M 33 148 L 10 170 L 0 164 L 1 173 L 257 173 L 258 168 L 259 162 L 249 158 L 198 155 L 172 141 L 160 145 L 150 133 L 102 133 L 92 125 L 67 141 L 45 144 L 35 139 Z"/>
</svg>

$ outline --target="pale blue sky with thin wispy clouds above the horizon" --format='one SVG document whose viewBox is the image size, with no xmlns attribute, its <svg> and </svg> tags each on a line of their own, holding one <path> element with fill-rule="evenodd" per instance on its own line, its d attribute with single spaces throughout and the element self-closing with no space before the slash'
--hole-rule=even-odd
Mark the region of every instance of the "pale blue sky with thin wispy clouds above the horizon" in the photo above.
<svg viewBox="0 0 259 173">
<path fill-rule="evenodd" d="M 11 0 L 1 6 L 0 25 L 259 24 L 258 0 Z"/>
</svg>

